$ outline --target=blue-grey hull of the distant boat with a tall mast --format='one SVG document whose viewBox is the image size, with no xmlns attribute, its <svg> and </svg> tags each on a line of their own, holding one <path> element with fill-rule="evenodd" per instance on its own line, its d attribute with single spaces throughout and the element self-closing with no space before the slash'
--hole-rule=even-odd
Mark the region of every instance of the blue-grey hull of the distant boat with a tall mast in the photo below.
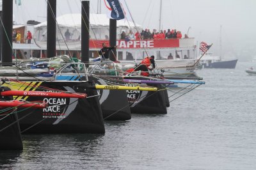
<svg viewBox="0 0 256 170">
<path fill-rule="evenodd" d="M 206 65 L 205 63 L 202 64 L 203 68 L 236 68 L 236 63 L 238 59 L 230 60 L 230 61 L 218 61 L 209 63 Z"/>
</svg>

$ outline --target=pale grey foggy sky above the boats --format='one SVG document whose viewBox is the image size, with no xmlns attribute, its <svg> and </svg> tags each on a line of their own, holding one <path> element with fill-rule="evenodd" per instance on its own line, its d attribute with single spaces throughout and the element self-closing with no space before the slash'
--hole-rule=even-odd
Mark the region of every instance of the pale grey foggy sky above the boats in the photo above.
<svg viewBox="0 0 256 170">
<path fill-rule="evenodd" d="M 47 0 L 13 0 L 13 15 L 17 24 L 27 20 L 46 20 Z M 136 23 L 143 28 L 158 29 L 160 0 L 126 0 Z M 90 1 L 90 12 L 97 13 L 98 1 Z M 106 13 L 104 0 L 101 13 Z M 256 57 L 256 1 L 255 0 L 163 0 L 161 29 L 177 29 L 201 41 L 213 43 L 211 51 L 224 58 L 240 61 Z M 57 16 L 81 13 L 81 0 L 57 0 Z M 190 27 L 190 28 L 189 28 Z M 220 31 L 220 27 L 222 28 Z M 221 33 L 221 34 L 220 34 Z"/>
</svg>

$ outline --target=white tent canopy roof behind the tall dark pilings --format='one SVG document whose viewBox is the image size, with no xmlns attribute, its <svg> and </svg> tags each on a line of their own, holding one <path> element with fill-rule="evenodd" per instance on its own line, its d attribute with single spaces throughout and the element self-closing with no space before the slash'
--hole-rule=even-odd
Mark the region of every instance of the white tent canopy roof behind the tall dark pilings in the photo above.
<svg viewBox="0 0 256 170">
<path fill-rule="evenodd" d="M 81 27 L 81 13 L 69 13 L 66 15 L 62 15 L 56 18 L 58 22 L 58 26 L 60 27 Z M 99 27 L 99 26 L 109 26 L 109 18 L 106 14 L 95 14 L 90 13 L 90 24 L 92 27 Z M 42 22 L 36 27 L 44 27 L 47 26 L 47 21 Z M 133 22 L 128 20 L 117 20 L 116 27 L 134 27 Z M 137 27 L 141 27 L 140 25 L 136 24 Z"/>
</svg>

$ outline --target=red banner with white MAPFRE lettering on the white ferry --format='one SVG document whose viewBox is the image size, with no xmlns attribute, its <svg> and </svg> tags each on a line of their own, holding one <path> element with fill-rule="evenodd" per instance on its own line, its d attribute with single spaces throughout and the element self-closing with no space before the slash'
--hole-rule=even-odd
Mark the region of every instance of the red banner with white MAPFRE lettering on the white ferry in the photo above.
<svg viewBox="0 0 256 170">
<path fill-rule="evenodd" d="M 108 40 L 90 40 L 90 49 L 101 49 L 102 43 L 109 45 Z M 179 47 L 179 39 L 163 39 L 163 40 L 117 40 L 118 49 L 143 49 L 143 48 L 173 48 Z"/>
</svg>

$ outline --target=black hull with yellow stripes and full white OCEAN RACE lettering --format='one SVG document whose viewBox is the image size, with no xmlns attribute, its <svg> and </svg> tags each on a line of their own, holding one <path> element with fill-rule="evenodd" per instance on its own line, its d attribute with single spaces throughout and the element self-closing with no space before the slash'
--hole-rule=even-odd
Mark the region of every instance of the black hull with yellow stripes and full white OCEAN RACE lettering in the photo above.
<svg viewBox="0 0 256 170">
<path fill-rule="evenodd" d="M 86 93 L 88 97 L 97 95 L 92 82 L 12 82 L 3 84 L 15 89 L 20 83 L 26 83 L 20 90 L 44 91 L 40 87 L 60 89 L 76 93 Z M 31 87 L 30 85 L 37 85 Z M 40 86 L 39 86 L 40 85 Z M 99 98 L 47 98 L 17 97 L 27 101 L 47 101 L 46 109 L 19 109 L 18 117 L 22 120 L 20 130 L 35 134 L 67 134 L 67 133 L 104 133 L 104 121 L 100 109 Z M 26 117 L 24 117 L 26 116 Z"/>
</svg>

